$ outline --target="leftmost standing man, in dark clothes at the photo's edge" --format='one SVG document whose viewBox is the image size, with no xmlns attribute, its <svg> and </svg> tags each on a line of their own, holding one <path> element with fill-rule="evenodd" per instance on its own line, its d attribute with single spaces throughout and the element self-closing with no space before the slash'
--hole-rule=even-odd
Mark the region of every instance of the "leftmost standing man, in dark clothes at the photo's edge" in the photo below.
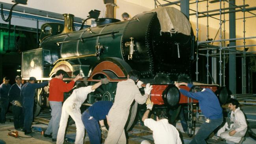
<svg viewBox="0 0 256 144">
<path fill-rule="evenodd" d="M 0 123 L 6 122 L 6 112 L 8 110 L 9 100 L 8 92 L 11 85 L 9 84 L 9 78 L 4 77 L 3 83 L 0 85 L 0 106 L 1 106 L 1 115 Z"/>
</svg>

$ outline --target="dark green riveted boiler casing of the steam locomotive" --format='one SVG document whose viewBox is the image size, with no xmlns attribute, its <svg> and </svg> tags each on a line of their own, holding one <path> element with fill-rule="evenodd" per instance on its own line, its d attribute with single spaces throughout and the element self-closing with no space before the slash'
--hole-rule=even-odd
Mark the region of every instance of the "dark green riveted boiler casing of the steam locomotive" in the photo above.
<svg viewBox="0 0 256 144">
<path fill-rule="evenodd" d="M 113 37 L 111 34 L 91 37 L 117 31 L 118 33 L 115 33 Z M 156 74 L 161 72 L 169 73 L 175 80 L 179 74 L 190 75 L 193 33 L 187 36 L 181 33 L 171 35 L 160 31 L 160 23 L 156 13 L 141 13 L 136 15 L 133 20 L 47 37 L 41 42 L 40 48 L 54 52 L 51 55 L 51 57 L 55 57 L 52 60 L 54 63 L 57 60 L 56 57 L 68 58 L 95 54 L 96 45 L 103 45 L 105 50 L 100 56 L 67 60 L 71 65 L 82 66 L 80 71 L 83 71 L 83 76 L 88 76 L 89 70 L 107 57 L 124 60 L 132 69 L 139 70 L 143 78 L 154 78 Z M 83 41 L 70 41 L 84 37 L 90 38 L 85 38 Z M 130 37 L 134 38 L 134 54 L 133 58 L 128 60 L 129 47 L 125 46 L 125 42 L 129 42 Z M 56 44 L 63 41 L 70 42 L 61 43 L 59 46 Z M 180 57 L 178 57 L 177 44 L 179 45 Z"/>
</svg>

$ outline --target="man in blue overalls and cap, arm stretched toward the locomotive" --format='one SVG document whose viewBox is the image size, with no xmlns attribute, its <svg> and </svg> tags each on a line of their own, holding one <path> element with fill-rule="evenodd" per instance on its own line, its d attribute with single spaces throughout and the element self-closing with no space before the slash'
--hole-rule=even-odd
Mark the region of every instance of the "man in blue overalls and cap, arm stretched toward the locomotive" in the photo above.
<svg viewBox="0 0 256 144">
<path fill-rule="evenodd" d="M 32 133 L 31 125 L 33 121 L 33 107 L 35 100 L 35 89 L 39 89 L 48 85 L 48 81 L 42 83 L 35 83 L 37 79 L 30 77 L 28 83 L 24 84 L 21 88 L 22 108 L 24 113 L 24 128 L 23 131 L 26 134 Z"/>
</svg>

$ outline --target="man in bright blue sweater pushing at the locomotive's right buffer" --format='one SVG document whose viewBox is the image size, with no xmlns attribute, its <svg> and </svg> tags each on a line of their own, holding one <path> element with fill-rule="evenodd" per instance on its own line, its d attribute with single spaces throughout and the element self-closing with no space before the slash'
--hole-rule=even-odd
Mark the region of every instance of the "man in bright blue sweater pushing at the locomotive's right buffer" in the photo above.
<svg viewBox="0 0 256 144">
<path fill-rule="evenodd" d="M 181 89 L 180 85 L 191 88 L 191 92 Z M 198 100 L 199 107 L 206 119 L 189 144 L 206 144 L 205 139 L 223 122 L 222 108 L 217 96 L 211 89 L 202 89 L 190 83 L 175 83 L 175 86 L 184 96 Z"/>
</svg>

